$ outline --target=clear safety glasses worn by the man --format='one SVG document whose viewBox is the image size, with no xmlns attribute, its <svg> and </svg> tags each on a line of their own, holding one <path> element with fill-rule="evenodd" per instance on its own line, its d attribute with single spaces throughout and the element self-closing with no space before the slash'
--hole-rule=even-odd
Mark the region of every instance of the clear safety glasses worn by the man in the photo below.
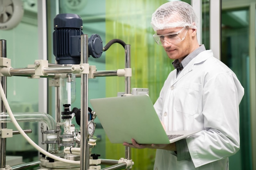
<svg viewBox="0 0 256 170">
<path fill-rule="evenodd" d="M 188 28 L 185 26 L 180 31 L 174 32 L 174 33 L 168 33 L 168 34 L 159 34 L 155 33 L 153 35 L 155 41 L 158 45 L 163 46 L 164 43 L 170 44 L 177 44 L 180 41 L 183 41 L 186 37 L 186 33 L 182 33 L 186 29 L 186 33 L 188 32 Z"/>
</svg>

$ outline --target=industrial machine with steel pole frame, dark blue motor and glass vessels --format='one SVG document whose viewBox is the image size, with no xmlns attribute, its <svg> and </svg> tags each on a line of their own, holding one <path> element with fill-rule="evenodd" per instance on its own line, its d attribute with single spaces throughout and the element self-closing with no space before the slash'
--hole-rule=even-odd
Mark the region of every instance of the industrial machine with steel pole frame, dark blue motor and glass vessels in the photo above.
<svg viewBox="0 0 256 170">
<path fill-rule="evenodd" d="M 131 94 L 130 77 L 130 45 L 120 39 L 113 39 L 103 47 L 101 37 L 93 34 L 91 37 L 82 32 L 83 21 L 76 14 L 58 14 L 54 18 L 53 49 L 56 63 L 47 60 L 36 60 L 26 68 L 12 68 L 11 60 L 6 56 L 6 40 L 0 40 L 0 170 L 22 170 L 38 165 L 39 170 L 99 170 L 101 165 L 108 165 L 102 170 L 130 169 L 133 165 L 130 148 L 126 147 L 124 158 L 119 160 L 99 159 L 92 154 L 97 137 L 94 136 L 97 116 L 88 107 L 88 78 L 99 76 L 124 76 L 125 93 Z M 114 44 L 119 43 L 125 49 L 125 68 L 110 71 L 97 71 L 96 66 L 88 64 L 88 57 L 101 57 L 101 54 Z M 6 78 L 8 76 L 28 76 L 30 78 L 49 78 L 58 90 L 56 98 L 56 120 L 46 113 L 13 113 L 6 99 Z M 72 108 L 74 100 L 74 80 L 81 78 L 81 109 Z M 75 118 L 80 129 L 75 129 L 72 119 Z M 47 150 L 40 148 L 31 140 L 18 122 L 45 122 L 42 124 L 42 144 Z M 18 166 L 8 166 L 5 163 L 6 138 L 12 137 L 14 131 L 7 129 L 6 123 L 13 122 L 27 142 L 34 146 L 42 157 L 40 160 Z M 47 129 L 47 130 L 44 130 Z"/>
</svg>

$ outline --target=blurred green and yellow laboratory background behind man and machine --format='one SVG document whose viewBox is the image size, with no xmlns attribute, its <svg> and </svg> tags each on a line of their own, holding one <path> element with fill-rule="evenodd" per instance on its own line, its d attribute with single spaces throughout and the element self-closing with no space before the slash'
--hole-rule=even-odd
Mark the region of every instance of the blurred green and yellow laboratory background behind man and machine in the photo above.
<svg viewBox="0 0 256 170">
<path fill-rule="evenodd" d="M 240 150 L 229 157 L 229 169 L 256 170 L 256 0 L 183 1 L 191 4 L 198 15 L 200 44 L 204 44 L 206 49 L 212 49 L 216 57 L 235 72 L 245 88 L 245 96 L 240 103 Z M 127 48 L 130 50 L 127 54 L 127 48 L 120 43 L 114 43 L 108 50 L 101 52 L 101 57 L 88 57 L 89 65 L 95 65 L 97 71 L 127 68 L 126 59 L 127 55 L 130 55 L 128 67 L 131 69 L 132 76 L 128 81 L 130 82 L 128 87 L 148 89 L 151 100 L 155 102 L 166 77 L 174 69 L 164 49 L 154 42 L 154 31 L 150 25 L 152 13 L 166 2 L 168 0 L 0 0 L 0 39 L 6 40 L 1 43 L 4 43 L 6 57 L 10 59 L 12 68 L 33 70 L 31 68 L 39 65 L 34 66 L 35 61 L 39 63 L 48 61 L 53 64 L 52 68 L 57 68 L 58 65 L 54 65 L 56 64 L 54 55 L 56 42 L 53 41 L 54 18 L 64 13 L 79 15 L 82 20 L 83 34 L 88 37 L 97 35 L 103 46 L 106 46 L 112 39 L 120 39 L 128 44 Z M 3 11 L 7 8 L 4 5 L 9 5 L 15 10 L 11 11 L 11 14 L 4 15 Z M 12 28 L 4 27 L 7 20 L 12 20 L 13 23 L 10 23 Z M 97 48 L 98 44 L 94 45 L 96 46 L 94 48 Z M 4 64 L 1 64 L 3 67 Z M 27 70 L 20 69 L 21 72 Z M 17 74 L 14 75 L 14 72 Z M 114 97 L 126 92 L 124 76 L 97 75 L 97 77 L 88 78 L 87 92 L 81 90 L 83 76 L 71 76 L 73 78 L 72 96 L 69 101 L 71 108 L 83 107 L 81 106 L 83 94 L 88 95 L 85 100 L 90 100 L 91 98 Z M 24 119 L 20 118 L 18 124 L 23 130 L 32 130 L 27 135 L 38 146 L 45 150 L 49 149 L 47 143 L 49 145 L 56 143 L 50 142 L 49 135 L 47 138 L 49 140 L 43 137 L 50 133 L 45 130 L 45 124 L 48 119 L 56 121 L 56 117 L 59 116 L 60 107 L 56 98 L 66 97 L 59 90 L 62 79 L 56 81 L 56 78 L 44 77 L 44 75 L 39 76 L 40 78 L 28 76 L 27 73 L 21 75 L 15 69 L 13 75 L 6 77 L 6 96 L 11 111 L 13 114 L 24 113 L 21 114 Z M 63 78 L 63 81 L 65 80 Z M 90 102 L 88 102 L 88 107 L 92 108 Z M 31 113 L 31 116 L 28 113 Z M 43 120 L 44 118 L 41 118 L 41 115 L 38 116 L 37 113 L 46 113 L 47 116 L 43 114 L 43 117 L 47 117 L 47 120 Z M 33 116 L 35 119 L 25 121 L 26 118 Z M 0 117 L 1 126 L 6 124 L 7 129 L 17 131 L 11 121 L 5 121 L 7 119 L 6 115 Z M 113 118 L 113 123 L 115 121 L 117 120 Z M 75 118 L 71 122 L 74 129 L 80 128 Z M 97 154 L 100 159 L 106 159 L 105 164 L 109 163 L 108 166 L 102 165 L 101 168 L 111 166 L 107 160 L 119 160 L 126 157 L 127 148 L 122 144 L 112 144 L 109 141 L 97 117 L 93 123 L 95 124 L 94 137 L 97 137 L 97 142 L 90 148 L 90 152 Z M 48 129 L 49 126 L 51 125 L 48 125 Z M 3 129 L 3 126 L 0 129 Z M 55 134 L 56 131 L 52 133 Z M 72 137 L 70 134 L 65 135 L 61 135 L 63 141 L 67 136 Z M 0 169 L 7 169 L 5 165 L 9 165 L 12 169 L 38 170 L 42 168 L 39 167 L 42 155 L 21 134 L 1 137 L 0 142 L 1 147 L 4 146 L 3 143 L 6 144 L 6 149 L 0 149 Z M 65 144 L 61 146 L 66 147 Z M 83 149 L 86 150 L 86 148 Z M 129 153 L 131 154 L 129 157 L 134 162 L 133 170 L 153 169 L 155 150 L 131 149 Z M 116 161 L 113 162 L 116 163 Z M 25 166 L 29 163 L 32 165 Z M 83 166 L 88 166 L 88 164 L 85 163 Z M 70 166 L 70 169 L 80 168 L 76 165 Z"/>
</svg>

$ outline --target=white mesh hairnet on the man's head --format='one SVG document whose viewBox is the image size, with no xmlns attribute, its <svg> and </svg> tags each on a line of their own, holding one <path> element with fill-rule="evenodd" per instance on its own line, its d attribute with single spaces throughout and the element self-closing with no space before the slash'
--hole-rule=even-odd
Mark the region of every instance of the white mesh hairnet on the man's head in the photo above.
<svg viewBox="0 0 256 170">
<path fill-rule="evenodd" d="M 182 1 L 162 4 L 152 14 L 151 25 L 154 31 L 184 26 L 197 29 L 193 8 Z"/>
</svg>

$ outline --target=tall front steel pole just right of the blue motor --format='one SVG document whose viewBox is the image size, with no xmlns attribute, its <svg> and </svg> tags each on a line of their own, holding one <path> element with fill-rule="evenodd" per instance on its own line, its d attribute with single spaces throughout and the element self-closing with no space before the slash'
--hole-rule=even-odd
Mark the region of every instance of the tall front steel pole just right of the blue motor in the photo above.
<svg viewBox="0 0 256 170">
<path fill-rule="evenodd" d="M 81 35 L 81 63 L 88 63 L 88 35 Z M 80 170 L 89 169 L 88 145 L 88 75 L 81 74 L 81 155 Z"/>
</svg>

